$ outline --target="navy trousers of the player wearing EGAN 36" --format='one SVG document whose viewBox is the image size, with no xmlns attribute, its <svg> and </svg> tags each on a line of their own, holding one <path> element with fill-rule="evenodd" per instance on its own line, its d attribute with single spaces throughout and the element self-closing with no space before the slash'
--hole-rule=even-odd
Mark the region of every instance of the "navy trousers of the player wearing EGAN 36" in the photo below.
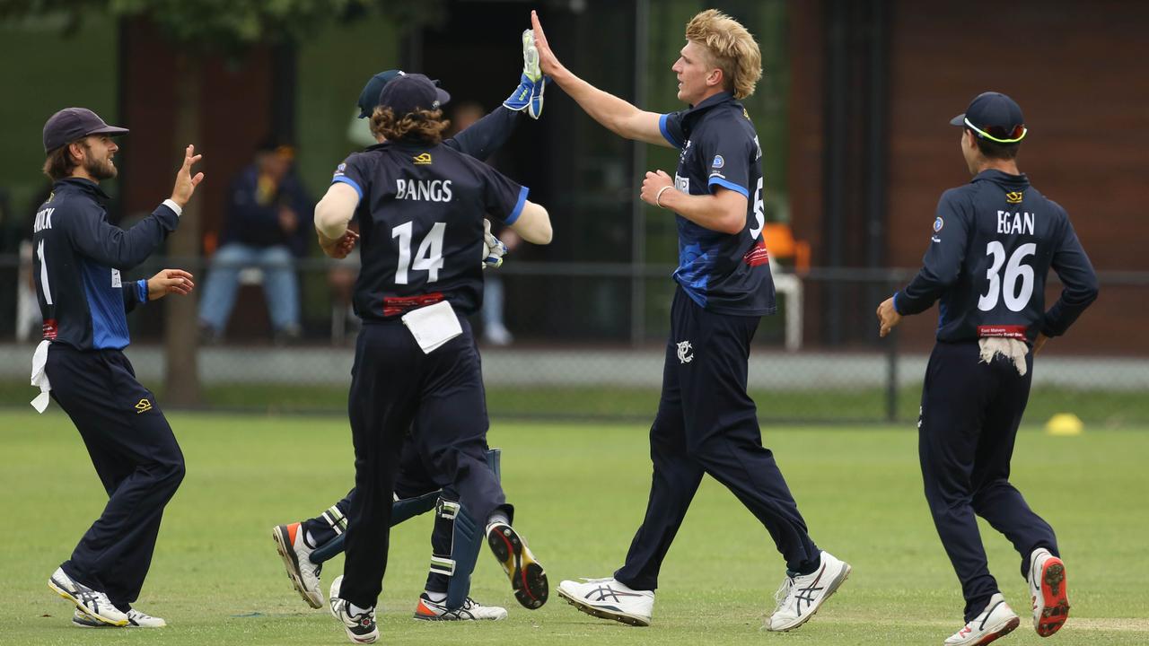
<svg viewBox="0 0 1149 646">
<path fill-rule="evenodd" d="M 1023 377 L 1005 357 L 982 363 L 977 341 L 938 343 L 926 368 L 918 421 L 921 479 L 938 536 L 962 582 L 966 622 L 998 592 L 974 515 L 1013 544 L 1023 577 L 1034 549 L 1058 554 L 1052 528 L 1009 482 L 1013 441 L 1030 398 L 1032 353 L 1026 362 Z"/>
</svg>

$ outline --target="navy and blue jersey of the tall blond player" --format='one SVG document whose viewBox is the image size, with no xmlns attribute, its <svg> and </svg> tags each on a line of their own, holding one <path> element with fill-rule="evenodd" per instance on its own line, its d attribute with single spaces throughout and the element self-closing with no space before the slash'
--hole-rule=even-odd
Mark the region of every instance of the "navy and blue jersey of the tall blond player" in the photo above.
<svg viewBox="0 0 1149 646">
<path fill-rule="evenodd" d="M 674 280 L 699 306 L 718 314 L 774 313 L 774 282 L 762 239 L 762 147 L 746 108 L 728 92 L 662 115 L 662 136 L 681 153 L 674 187 L 708 195 L 717 186 L 746 195 L 746 226 L 731 236 L 677 215 Z"/>
</svg>

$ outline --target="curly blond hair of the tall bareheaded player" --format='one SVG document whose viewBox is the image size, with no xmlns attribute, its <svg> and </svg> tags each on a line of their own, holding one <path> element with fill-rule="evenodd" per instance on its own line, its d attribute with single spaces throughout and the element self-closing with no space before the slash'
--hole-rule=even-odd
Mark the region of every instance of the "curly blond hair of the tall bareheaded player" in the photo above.
<svg viewBox="0 0 1149 646">
<path fill-rule="evenodd" d="M 710 63 L 722 70 L 723 82 L 735 99 L 754 94 L 754 86 L 762 78 L 762 52 L 754 36 L 738 21 L 718 9 L 707 9 L 686 24 L 686 39 L 710 54 Z"/>
</svg>

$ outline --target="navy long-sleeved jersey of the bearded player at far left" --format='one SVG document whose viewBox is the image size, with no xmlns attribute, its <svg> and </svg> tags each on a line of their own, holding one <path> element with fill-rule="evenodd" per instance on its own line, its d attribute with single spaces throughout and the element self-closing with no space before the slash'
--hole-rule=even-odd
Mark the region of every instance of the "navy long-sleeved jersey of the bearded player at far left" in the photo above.
<svg viewBox="0 0 1149 646">
<path fill-rule="evenodd" d="M 108 222 L 108 195 L 78 177 L 52 186 L 36 212 L 32 245 L 36 297 L 44 338 L 77 349 L 123 349 L 128 317 L 147 302 L 147 280 L 123 282 L 119 272 L 144 262 L 179 216 L 165 205 L 129 230 Z"/>
</svg>

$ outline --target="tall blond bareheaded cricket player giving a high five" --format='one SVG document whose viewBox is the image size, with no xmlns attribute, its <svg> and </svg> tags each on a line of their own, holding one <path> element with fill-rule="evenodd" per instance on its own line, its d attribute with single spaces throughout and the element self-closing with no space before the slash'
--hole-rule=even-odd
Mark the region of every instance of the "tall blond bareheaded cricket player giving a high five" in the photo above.
<svg viewBox="0 0 1149 646">
<path fill-rule="evenodd" d="M 679 240 L 662 400 L 650 428 L 654 478 L 646 518 L 614 577 L 564 580 L 558 594 L 584 613 L 649 625 L 662 561 L 703 474 L 710 474 L 762 522 L 785 557 L 786 577 L 766 626 L 793 630 L 838 590 L 850 567 L 810 538 L 773 455 L 762 446 L 746 392 L 750 340 L 759 317 L 774 313 L 762 239 L 762 149 L 738 102 L 762 77 L 758 44 L 714 9 L 694 16 L 671 68 L 678 99 L 688 107 L 660 115 L 571 74 L 533 11 L 531 21 L 543 74 L 588 115 L 627 139 L 680 151 L 674 177 L 647 172 L 641 193 L 674 214 Z"/>
</svg>

